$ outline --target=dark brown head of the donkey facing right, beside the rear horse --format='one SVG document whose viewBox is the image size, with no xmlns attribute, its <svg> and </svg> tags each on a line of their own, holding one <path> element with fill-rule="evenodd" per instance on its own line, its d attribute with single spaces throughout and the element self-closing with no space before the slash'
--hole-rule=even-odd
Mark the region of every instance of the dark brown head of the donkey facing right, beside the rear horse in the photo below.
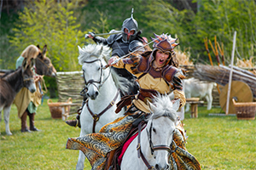
<svg viewBox="0 0 256 170">
<path fill-rule="evenodd" d="M 39 45 L 38 48 L 40 49 Z M 44 45 L 43 52 L 39 52 L 36 58 L 36 72 L 38 75 L 45 75 L 49 77 L 56 76 L 56 70 L 54 65 L 51 64 L 51 61 L 46 57 L 47 45 Z"/>
</svg>

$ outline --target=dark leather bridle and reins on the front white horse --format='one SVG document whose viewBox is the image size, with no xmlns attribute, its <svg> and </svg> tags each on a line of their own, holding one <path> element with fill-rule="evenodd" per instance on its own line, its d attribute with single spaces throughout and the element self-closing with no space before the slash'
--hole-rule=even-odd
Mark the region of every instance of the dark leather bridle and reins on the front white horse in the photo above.
<svg viewBox="0 0 256 170">
<path fill-rule="evenodd" d="M 141 150 L 142 124 L 143 123 L 140 122 L 139 125 L 138 125 L 137 156 L 138 156 L 138 158 L 142 157 L 144 164 L 148 167 L 148 170 L 151 170 L 151 169 L 155 169 L 155 168 L 154 168 L 154 166 L 150 166 L 150 164 L 148 163 L 147 159 L 145 158 L 145 156 L 143 155 L 143 152 Z M 151 150 L 151 155 L 154 156 L 154 150 L 166 150 L 166 151 L 168 151 L 168 153 L 175 152 L 177 150 L 177 148 L 175 150 L 172 150 L 171 147 L 168 146 L 168 145 L 165 145 L 165 144 L 154 145 L 152 143 L 152 126 L 153 126 L 153 120 L 150 123 L 149 132 L 148 132 L 148 129 L 146 129 L 147 130 L 147 134 L 148 134 L 148 142 L 149 142 L 149 147 L 150 147 L 150 150 Z M 174 131 L 175 131 L 175 129 L 172 131 L 172 134 L 174 133 Z M 173 142 L 174 141 L 173 141 L 173 135 L 172 135 L 172 143 Z M 154 156 L 154 159 L 155 159 L 155 156 Z"/>
</svg>

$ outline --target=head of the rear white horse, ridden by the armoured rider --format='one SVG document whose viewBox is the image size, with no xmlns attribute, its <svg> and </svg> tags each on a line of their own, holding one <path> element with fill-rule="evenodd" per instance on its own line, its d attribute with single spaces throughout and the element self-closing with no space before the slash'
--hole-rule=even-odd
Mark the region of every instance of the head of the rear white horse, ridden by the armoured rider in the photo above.
<svg viewBox="0 0 256 170">
<path fill-rule="evenodd" d="M 82 65 L 85 90 L 84 95 L 90 99 L 96 99 L 99 89 L 110 75 L 109 68 L 104 70 L 107 65 L 107 58 L 110 49 L 99 44 L 89 44 L 84 48 L 79 47 L 79 64 Z"/>
</svg>

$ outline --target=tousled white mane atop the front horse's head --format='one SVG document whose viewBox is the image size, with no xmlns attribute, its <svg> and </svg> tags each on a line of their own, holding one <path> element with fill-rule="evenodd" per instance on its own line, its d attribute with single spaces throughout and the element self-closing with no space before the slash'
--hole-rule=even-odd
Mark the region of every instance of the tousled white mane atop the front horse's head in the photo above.
<svg viewBox="0 0 256 170">
<path fill-rule="evenodd" d="M 167 94 L 157 94 L 153 99 L 153 105 L 155 106 L 155 111 L 151 114 L 147 121 L 150 119 L 156 119 L 160 116 L 166 116 L 170 118 L 173 122 L 177 121 L 177 113 L 172 109 L 172 101 Z"/>
</svg>

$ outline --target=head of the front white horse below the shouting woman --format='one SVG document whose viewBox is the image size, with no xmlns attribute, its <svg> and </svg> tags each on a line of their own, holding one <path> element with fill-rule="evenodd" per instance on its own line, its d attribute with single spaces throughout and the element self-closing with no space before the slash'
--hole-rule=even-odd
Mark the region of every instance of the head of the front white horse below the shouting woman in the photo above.
<svg viewBox="0 0 256 170">
<path fill-rule="evenodd" d="M 154 157 L 149 164 L 154 165 L 156 169 L 169 169 L 170 146 L 177 121 L 179 100 L 172 103 L 167 95 L 158 95 L 153 104 L 148 102 L 148 105 L 152 115 L 148 117 L 146 129 L 150 154 Z"/>
</svg>

